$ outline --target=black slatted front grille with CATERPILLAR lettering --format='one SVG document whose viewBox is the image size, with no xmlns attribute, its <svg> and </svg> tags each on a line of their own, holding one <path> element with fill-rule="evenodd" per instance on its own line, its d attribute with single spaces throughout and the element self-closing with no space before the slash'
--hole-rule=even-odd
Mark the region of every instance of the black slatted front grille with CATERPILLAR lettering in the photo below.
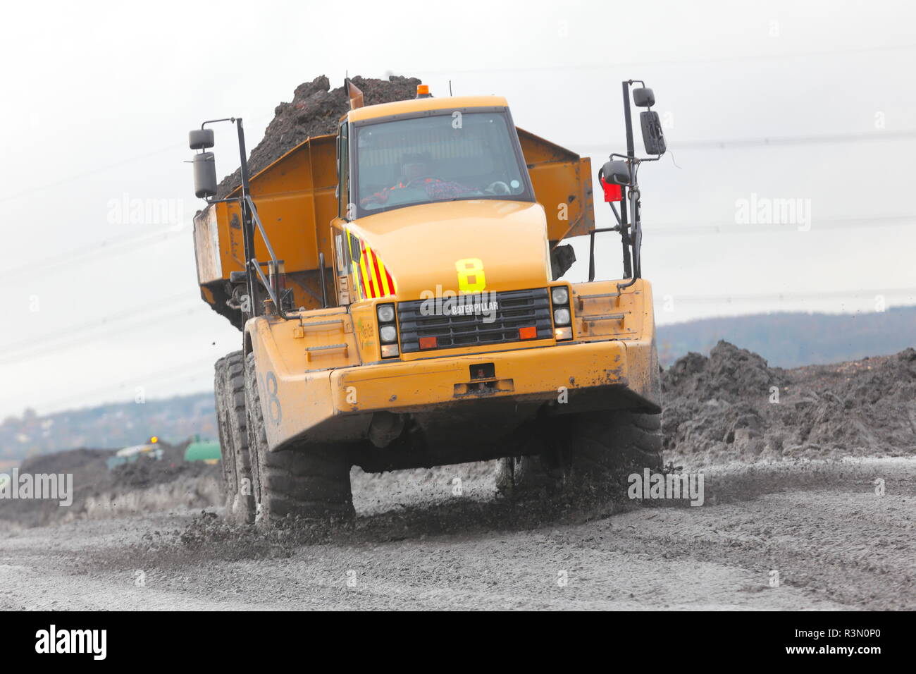
<svg viewBox="0 0 916 674">
<path fill-rule="evenodd" d="M 429 349 L 435 350 L 517 342 L 521 339 L 518 334 L 521 327 L 536 328 L 537 337 L 532 339 L 552 336 L 551 303 L 546 288 L 459 295 L 453 299 L 452 306 L 447 303 L 447 300 L 398 303 L 402 352 L 419 351 L 421 337 L 436 337 L 437 346 Z M 490 303 L 496 303 L 492 313 L 483 315 L 483 310 L 474 311 L 474 304 L 490 309 Z M 471 315 L 455 315 L 467 311 L 468 306 Z M 492 322 L 487 322 L 491 319 Z"/>
</svg>

